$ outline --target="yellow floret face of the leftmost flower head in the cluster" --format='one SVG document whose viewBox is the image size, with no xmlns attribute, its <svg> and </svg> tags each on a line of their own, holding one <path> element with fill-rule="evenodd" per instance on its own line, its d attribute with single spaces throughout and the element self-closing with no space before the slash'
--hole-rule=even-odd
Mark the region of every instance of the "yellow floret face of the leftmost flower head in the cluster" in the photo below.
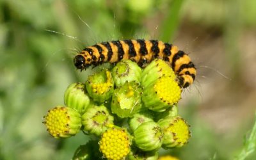
<svg viewBox="0 0 256 160">
<path fill-rule="evenodd" d="M 47 131 L 54 137 L 58 138 L 69 131 L 70 116 L 68 116 L 67 108 L 56 107 L 48 111 L 45 116 L 45 125 Z"/>
</svg>

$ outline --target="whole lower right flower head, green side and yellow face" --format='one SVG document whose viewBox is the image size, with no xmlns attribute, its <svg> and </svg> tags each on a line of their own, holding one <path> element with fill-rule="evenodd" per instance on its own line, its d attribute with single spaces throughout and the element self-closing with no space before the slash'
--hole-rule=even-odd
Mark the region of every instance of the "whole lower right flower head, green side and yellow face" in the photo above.
<svg viewBox="0 0 256 160">
<path fill-rule="evenodd" d="M 158 124 L 164 131 L 163 148 L 182 147 L 190 138 L 189 125 L 180 116 L 167 117 Z"/>
</svg>

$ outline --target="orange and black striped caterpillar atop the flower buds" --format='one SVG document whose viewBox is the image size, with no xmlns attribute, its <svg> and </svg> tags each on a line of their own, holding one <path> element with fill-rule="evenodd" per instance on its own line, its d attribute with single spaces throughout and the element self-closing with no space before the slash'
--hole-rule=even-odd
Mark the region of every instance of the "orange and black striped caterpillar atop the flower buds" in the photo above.
<svg viewBox="0 0 256 160">
<path fill-rule="evenodd" d="M 186 88 L 195 81 L 196 68 L 188 54 L 159 40 L 115 40 L 95 44 L 79 52 L 74 57 L 74 65 L 82 71 L 91 65 L 129 59 L 145 67 L 155 58 L 166 61 L 173 68 L 180 87 Z"/>
</svg>

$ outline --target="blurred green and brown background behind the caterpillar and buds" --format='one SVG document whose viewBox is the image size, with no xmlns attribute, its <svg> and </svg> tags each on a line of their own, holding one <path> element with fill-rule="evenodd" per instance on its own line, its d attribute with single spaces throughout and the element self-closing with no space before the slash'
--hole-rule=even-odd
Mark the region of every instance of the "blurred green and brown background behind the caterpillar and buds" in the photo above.
<svg viewBox="0 0 256 160">
<path fill-rule="evenodd" d="M 42 117 L 90 74 L 73 66 L 77 51 L 124 38 L 178 45 L 198 68 L 179 104 L 191 140 L 161 154 L 233 159 L 254 121 L 255 8 L 255 0 L 1 0 L 0 159 L 70 159 L 88 137 L 55 140 Z"/>
</svg>

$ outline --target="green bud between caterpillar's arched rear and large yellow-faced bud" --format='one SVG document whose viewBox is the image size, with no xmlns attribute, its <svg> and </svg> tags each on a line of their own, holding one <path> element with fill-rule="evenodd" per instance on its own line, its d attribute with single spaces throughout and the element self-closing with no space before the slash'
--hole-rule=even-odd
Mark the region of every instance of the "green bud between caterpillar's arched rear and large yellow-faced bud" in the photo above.
<svg viewBox="0 0 256 160">
<path fill-rule="evenodd" d="M 141 74 L 141 86 L 148 87 L 154 84 L 159 77 L 170 76 L 176 79 L 175 73 L 166 61 L 156 59 L 152 61 Z"/>
</svg>

